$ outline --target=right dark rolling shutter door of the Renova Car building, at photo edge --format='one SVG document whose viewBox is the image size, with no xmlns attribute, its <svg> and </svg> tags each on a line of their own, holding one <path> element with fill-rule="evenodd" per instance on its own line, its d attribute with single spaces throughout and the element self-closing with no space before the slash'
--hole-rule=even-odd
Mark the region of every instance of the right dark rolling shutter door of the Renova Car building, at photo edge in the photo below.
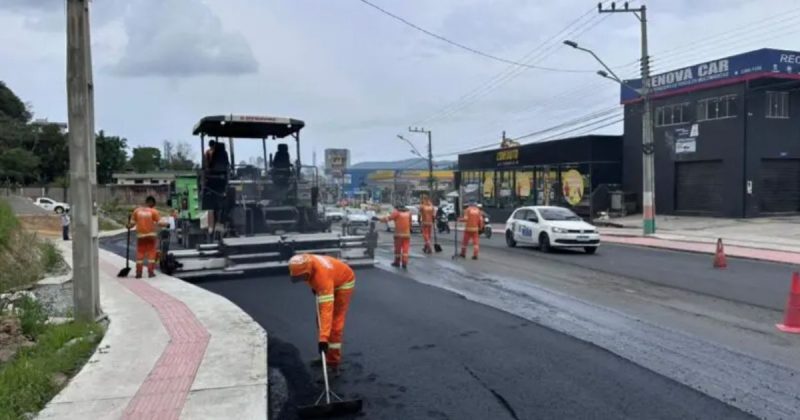
<svg viewBox="0 0 800 420">
<path fill-rule="evenodd" d="M 762 213 L 800 212 L 800 159 L 762 160 L 760 186 Z"/>
</svg>

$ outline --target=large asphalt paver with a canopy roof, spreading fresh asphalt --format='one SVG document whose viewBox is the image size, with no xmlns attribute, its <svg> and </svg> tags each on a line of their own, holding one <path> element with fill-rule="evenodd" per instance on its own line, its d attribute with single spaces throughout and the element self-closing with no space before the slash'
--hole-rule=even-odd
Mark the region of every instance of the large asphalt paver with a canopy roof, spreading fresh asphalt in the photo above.
<svg viewBox="0 0 800 420">
<path fill-rule="evenodd" d="M 195 125 L 201 150 L 211 151 L 203 153 L 196 188 L 186 177 L 173 186 L 178 239 L 172 247 L 162 241 L 164 272 L 189 279 L 272 270 L 304 252 L 374 265 L 374 222 L 364 235 L 345 235 L 319 217 L 317 170 L 300 162 L 304 126 L 301 120 L 251 115 L 208 116 Z M 234 164 L 240 139 L 261 140 L 263 167 Z M 282 139 L 294 140 L 294 160 Z M 268 140 L 277 140 L 269 155 Z"/>
</svg>

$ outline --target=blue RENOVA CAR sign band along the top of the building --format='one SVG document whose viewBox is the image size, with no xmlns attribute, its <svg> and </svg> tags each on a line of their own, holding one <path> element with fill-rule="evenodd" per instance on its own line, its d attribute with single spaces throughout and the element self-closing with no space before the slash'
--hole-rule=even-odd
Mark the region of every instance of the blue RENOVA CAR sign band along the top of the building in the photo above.
<svg viewBox="0 0 800 420">
<path fill-rule="evenodd" d="M 800 79 L 800 52 L 761 49 L 650 76 L 655 97 L 721 86 L 762 77 Z M 626 80 L 620 101 L 634 102 L 642 79 Z"/>
</svg>

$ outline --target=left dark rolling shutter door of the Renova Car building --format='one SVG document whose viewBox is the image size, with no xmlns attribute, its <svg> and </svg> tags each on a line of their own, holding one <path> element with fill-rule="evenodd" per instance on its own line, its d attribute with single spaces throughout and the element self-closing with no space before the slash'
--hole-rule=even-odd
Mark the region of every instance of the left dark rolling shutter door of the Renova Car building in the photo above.
<svg viewBox="0 0 800 420">
<path fill-rule="evenodd" d="M 675 210 L 722 213 L 722 162 L 675 164 Z"/>
</svg>

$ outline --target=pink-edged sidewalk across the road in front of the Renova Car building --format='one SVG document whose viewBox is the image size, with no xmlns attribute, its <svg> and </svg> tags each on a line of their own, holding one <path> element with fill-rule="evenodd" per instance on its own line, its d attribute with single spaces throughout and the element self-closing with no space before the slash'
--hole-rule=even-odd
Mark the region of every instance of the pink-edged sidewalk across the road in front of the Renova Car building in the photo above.
<svg viewBox="0 0 800 420">
<path fill-rule="evenodd" d="M 800 265 L 800 216 L 757 219 L 658 216 L 655 235 L 644 236 L 641 215 L 610 219 L 622 227 L 600 227 L 602 241 L 675 251 L 713 254 L 722 238 L 725 253 L 749 258 Z M 505 225 L 492 224 L 495 234 Z"/>
</svg>

